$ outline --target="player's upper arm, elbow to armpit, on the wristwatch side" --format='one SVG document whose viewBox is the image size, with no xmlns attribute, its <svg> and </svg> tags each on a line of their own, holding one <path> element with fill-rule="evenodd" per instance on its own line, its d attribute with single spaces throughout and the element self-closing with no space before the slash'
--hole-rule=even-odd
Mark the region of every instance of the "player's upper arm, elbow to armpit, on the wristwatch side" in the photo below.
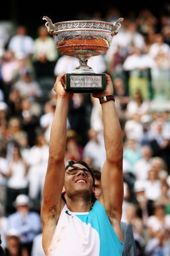
<svg viewBox="0 0 170 256">
<path fill-rule="evenodd" d="M 101 176 L 103 203 L 106 210 L 113 209 L 115 214 L 122 216 L 123 203 L 123 172 L 122 162 L 110 163 L 106 160 Z M 121 215 L 121 216 L 120 216 Z"/>
</svg>

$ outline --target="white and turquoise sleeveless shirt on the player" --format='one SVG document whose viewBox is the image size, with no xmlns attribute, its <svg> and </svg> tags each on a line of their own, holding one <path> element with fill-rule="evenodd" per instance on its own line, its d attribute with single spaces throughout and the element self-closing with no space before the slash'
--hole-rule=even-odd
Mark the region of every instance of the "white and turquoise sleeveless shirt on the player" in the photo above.
<svg viewBox="0 0 170 256">
<path fill-rule="evenodd" d="M 100 202 L 89 212 L 71 212 L 65 204 L 46 256 L 120 256 L 123 247 Z"/>
</svg>

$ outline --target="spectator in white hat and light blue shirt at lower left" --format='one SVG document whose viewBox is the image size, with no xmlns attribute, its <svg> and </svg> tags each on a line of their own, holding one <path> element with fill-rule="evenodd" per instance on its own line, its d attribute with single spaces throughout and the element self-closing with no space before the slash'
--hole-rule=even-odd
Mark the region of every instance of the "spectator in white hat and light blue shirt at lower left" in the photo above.
<svg viewBox="0 0 170 256">
<path fill-rule="evenodd" d="M 41 230 L 41 219 L 37 212 L 30 211 L 29 197 L 18 195 L 15 200 L 16 212 L 9 215 L 9 229 L 16 229 L 20 234 L 21 246 L 30 255 L 34 237 Z"/>
</svg>

